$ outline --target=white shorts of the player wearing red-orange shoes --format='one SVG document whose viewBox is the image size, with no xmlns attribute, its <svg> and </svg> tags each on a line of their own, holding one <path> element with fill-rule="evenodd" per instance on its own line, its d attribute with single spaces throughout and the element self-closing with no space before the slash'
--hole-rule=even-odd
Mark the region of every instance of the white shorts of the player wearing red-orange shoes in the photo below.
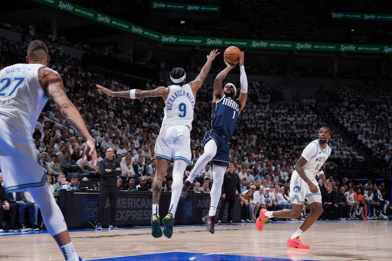
<svg viewBox="0 0 392 261">
<path fill-rule="evenodd" d="M 293 171 L 293 175 L 291 176 L 290 181 L 290 193 L 289 196 L 293 201 L 293 204 L 304 204 L 305 198 L 309 203 L 320 202 L 321 203 L 321 192 L 319 188 L 319 184 L 316 179 L 311 179 L 313 184 L 319 189 L 317 193 L 312 193 L 309 190 L 309 185 L 303 181 L 303 179 L 298 175 L 298 172 Z"/>
</svg>

